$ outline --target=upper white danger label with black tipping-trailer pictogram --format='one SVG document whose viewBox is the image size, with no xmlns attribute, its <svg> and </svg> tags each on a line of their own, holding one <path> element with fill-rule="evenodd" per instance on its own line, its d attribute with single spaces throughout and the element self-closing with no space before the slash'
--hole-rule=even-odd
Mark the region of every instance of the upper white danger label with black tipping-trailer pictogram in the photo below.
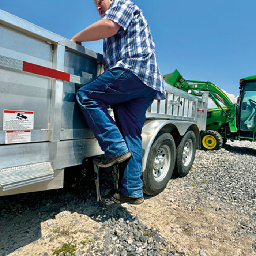
<svg viewBox="0 0 256 256">
<path fill-rule="evenodd" d="M 34 111 L 4 110 L 4 131 L 24 131 L 33 129 Z"/>
</svg>

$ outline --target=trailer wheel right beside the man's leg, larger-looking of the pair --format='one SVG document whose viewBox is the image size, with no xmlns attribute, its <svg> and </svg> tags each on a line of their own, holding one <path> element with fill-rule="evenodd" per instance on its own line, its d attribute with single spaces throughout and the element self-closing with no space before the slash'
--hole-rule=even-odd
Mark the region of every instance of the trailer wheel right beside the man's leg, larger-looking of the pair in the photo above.
<svg viewBox="0 0 256 256">
<path fill-rule="evenodd" d="M 146 169 L 142 173 L 143 192 L 157 195 L 165 189 L 175 165 L 176 148 L 170 133 L 160 135 L 150 148 Z"/>
</svg>

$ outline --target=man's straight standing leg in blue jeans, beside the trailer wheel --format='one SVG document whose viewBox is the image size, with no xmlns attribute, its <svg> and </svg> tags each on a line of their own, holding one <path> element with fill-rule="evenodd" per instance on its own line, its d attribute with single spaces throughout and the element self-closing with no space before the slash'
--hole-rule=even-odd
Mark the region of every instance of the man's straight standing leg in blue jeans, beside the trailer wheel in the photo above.
<svg viewBox="0 0 256 256">
<path fill-rule="evenodd" d="M 151 90 L 149 88 L 149 90 Z M 133 99 L 114 107 L 115 117 L 123 138 L 132 157 L 123 163 L 123 178 L 121 192 L 128 197 L 138 198 L 142 192 L 142 138 L 141 131 L 145 121 L 145 113 L 151 105 L 155 92 L 148 97 Z"/>
</svg>

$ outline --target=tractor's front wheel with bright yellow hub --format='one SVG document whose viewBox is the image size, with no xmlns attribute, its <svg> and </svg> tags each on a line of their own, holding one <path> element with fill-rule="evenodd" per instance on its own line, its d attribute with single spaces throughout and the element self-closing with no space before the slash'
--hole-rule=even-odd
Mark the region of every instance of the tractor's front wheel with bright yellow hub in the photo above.
<svg viewBox="0 0 256 256">
<path fill-rule="evenodd" d="M 201 148 L 203 150 L 218 150 L 222 147 L 221 135 L 214 130 L 204 131 L 201 134 Z"/>
</svg>

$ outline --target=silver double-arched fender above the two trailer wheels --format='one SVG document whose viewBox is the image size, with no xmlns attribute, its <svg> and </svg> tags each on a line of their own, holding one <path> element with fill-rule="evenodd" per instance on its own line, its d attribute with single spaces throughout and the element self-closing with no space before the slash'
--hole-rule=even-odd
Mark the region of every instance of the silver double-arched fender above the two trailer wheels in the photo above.
<svg viewBox="0 0 256 256">
<path fill-rule="evenodd" d="M 200 133 L 195 123 L 175 120 L 146 120 L 142 128 L 142 172 L 146 169 L 146 163 L 150 148 L 160 131 L 172 132 L 178 130 L 180 136 L 183 136 L 188 129 L 192 129 L 196 135 L 197 148 L 200 146 Z"/>
</svg>

